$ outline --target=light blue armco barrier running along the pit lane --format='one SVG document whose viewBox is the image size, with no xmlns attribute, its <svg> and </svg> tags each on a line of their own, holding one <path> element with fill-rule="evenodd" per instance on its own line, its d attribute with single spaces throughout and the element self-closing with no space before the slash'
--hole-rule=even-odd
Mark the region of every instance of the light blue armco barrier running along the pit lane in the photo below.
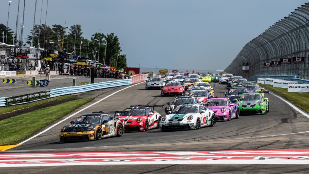
<svg viewBox="0 0 309 174">
<path fill-rule="evenodd" d="M 112 87 L 131 85 L 131 84 L 132 84 L 132 79 L 125 79 L 125 80 L 116 80 L 116 81 L 105 81 L 105 82 L 93 83 L 93 84 L 82 85 L 82 86 L 63 87 L 63 88 L 51 89 L 50 97 L 57 97 L 61 95 L 74 94 L 74 93 L 82 93 L 82 92 L 87 92 L 87 91 L 93 91 L 96 89 L 112 88 Z M 10 97 L 0 98 L 0 106 L 6 106 L 6 98 L 10 98 Z M 42 99 L 39 99 L 39 100 L 42 100 Z M 34 102 L 34 101 L 38 101 L 38 100 L 33 100 L 31 102 Z M 29 102 L 23 102 L 23 103 L 18 103 L 18 104 L 25 104 L 25 103 L 29 103 Z"/>
</svg>

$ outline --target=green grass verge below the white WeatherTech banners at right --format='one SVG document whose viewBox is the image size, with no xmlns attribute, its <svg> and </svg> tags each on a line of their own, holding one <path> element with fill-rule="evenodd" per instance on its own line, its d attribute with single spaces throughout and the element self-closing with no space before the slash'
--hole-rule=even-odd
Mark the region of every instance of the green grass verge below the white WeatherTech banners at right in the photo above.
<svg viewBox="0 0 309 174">
<path fill-rule="evenodd" d="M 273 93 L 284 97 L 286 100 L 293 103 L 295 106 L 309 113 L 308 103 L 309 103 L 309 93 L 288 93 L 287 88 L 274 88 L 273 85 L 260 85 L 266 89 L 269 89 Z M 271 103 L 271 101 L 269 101 Z"/>
</svg>

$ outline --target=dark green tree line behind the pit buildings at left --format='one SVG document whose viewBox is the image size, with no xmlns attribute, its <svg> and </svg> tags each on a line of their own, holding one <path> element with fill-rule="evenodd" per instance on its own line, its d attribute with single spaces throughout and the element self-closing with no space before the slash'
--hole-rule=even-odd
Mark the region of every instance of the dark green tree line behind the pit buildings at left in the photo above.
<svg viewBox="0 0 309 174">
<path fill-rule="evenodd" d="M 4 37 L 2 35 L 3 32 Z M 3 41 L 6 44 L 13 44 L 13 34 L 14 32 L 9 27 L 6 27 L 2 23 L 0 24 L 0 42 Z M 15 43 L 16 38 L 14 37 Z M 121 54 L 122 50 L 119 39 L 114 33 L 105 35 L 104 33 L 96 32 L 90 39 L 87 39 L 83 37 L 82 28 L 79 24 L 70 27 L 56 24 L 50 27 L 42 24 L 40 26 L 35 25 L 34 29 L 31 30 L 31 35 L 27 35 L 25 40 L 26 44 L 33 45 L 36 48 L 68 52 L 77 56 L 89 57 L 91 60 L 98 60 L 102 64 L 105 62 L 105 64 L 116 66 L 117 68 L 127 68 L 126 55 Z M 23 44 L 23 46 L 26 46 L 26 44 Z"/>
</svg>

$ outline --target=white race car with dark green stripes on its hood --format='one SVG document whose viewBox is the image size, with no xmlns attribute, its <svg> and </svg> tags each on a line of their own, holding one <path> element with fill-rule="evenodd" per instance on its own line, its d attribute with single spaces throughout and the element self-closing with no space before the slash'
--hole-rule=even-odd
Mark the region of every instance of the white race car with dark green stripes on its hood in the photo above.
<svg viewBox="0 0 309 174">
<path fill-rule="evenodd" d="M 177 106 L 169 115 L 162 117 L 160 130 L 190 130 L 204 126 L 214 126 L 216 115 L 210 109 L 199 104 Z"/>
</svg>

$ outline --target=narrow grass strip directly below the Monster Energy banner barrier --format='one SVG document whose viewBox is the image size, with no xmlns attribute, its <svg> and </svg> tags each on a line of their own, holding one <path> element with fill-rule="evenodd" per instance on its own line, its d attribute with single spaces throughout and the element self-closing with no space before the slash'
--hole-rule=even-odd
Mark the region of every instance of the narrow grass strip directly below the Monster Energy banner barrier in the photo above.
<svg viewBox="0 0 309 174">
<path fill-rule="evenodd" d="M 31 106 L 35 106 L 35 105 L 39 105 L 39 104 L 42 104 L 42 103 L 50 102 L 50 101 L 53 101 L 53 100 L 68 99 L 68 98 L 72 98 L 72 97 L 75 97 L 75 96 L 76 95 L 65 95 L 65 96 L 48 98 L 48 99 L 45 99 L 45 100 L 39 100 L 39 101 L 36 101 L 36 102 L 30 102 L 30 103 L 21 104 L 21 105 L 13 105 L 13 106 L 0 107 L 0 114 L 10 113 L 10 112 L 13 112 L 15 110 L 20 110 L 20 109 L 28 108 L 28 107 L 31 107 Z"/>
</svg>

